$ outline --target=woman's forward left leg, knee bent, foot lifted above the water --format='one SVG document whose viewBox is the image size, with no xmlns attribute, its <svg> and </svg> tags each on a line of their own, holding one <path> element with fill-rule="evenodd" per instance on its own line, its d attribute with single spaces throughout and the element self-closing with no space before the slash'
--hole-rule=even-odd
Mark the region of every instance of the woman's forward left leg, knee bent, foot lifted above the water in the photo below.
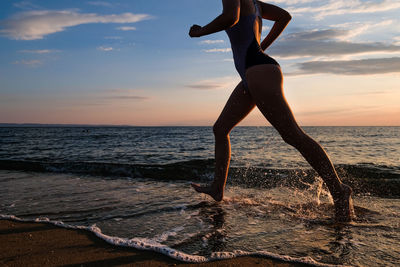
<svg viewBox="0 0 400 267">
<path fill-rule="evenodd" d="M 214 200 L 221 201 L 224 197 L 224 189 L 228 176 L 231 159 L 231 145 L 229 132 L 242 121 L 255 107 L 253 98 L 245 92 L 243 83 L 235 88 L 228 102 L 225 104 L 213 131 L 215 136 L 215 176 L 210 186 L 192 184 L 199 193 L 210 195 Z"/>
</svg>

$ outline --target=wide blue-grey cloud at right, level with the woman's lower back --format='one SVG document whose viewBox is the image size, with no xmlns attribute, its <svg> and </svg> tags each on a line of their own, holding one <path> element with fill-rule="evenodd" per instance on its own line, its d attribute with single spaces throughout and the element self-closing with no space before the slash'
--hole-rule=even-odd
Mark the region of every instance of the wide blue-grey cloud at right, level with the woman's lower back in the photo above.
<svg viewBox="0 0 400 267">
<path fill-rule="evenodd" d="M 282 58 L 306 56 L 343 56 L 371 52 L 399 52 L 400 46 L 343 41 L 351 31 L 327 29 L 292 33 L 282 38 L 268 53 Z"/>
</svg>

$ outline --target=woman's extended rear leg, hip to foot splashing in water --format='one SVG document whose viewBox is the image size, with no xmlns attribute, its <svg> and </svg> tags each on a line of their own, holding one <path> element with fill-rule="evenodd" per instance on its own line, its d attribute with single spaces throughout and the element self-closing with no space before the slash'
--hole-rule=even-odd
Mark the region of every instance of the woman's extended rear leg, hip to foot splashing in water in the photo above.
<svg viewBox="0 0 400 267">
<path fill-rule="evenodd" d="M 249 90 L 257 107 L 278 130 L 283 140 L 295 147 L 322 177 L 333 197 L 335 215 L 351 220 L 351 188 L 343 184 L 324 149 L 298 126 L 283 94 L 283 77 L 275 65 L 258 65 L 247 73 Z"/>
</svg>

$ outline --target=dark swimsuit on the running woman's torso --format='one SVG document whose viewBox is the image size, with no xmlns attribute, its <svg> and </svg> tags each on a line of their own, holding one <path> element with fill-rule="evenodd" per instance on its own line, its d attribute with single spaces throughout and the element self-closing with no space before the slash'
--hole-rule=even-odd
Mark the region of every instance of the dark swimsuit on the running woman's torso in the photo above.
<svg viewBox="0 0 400 267">
<path fill-rule="evenodd" d="M 232 46 L 233 59 L 236 70 L 242 77 L 243 84 L 247 88 L 246 70 L 255 65 L 278 65 L 272 57 L 263 52 L 254 34 L 254 23 L 261 13 L 256 0 L 253 0 L 256 13 L 240 17 L 239 22 L 226 30 Z M 260 26 L 261 27 L 261 26 Z"/>
</svg>

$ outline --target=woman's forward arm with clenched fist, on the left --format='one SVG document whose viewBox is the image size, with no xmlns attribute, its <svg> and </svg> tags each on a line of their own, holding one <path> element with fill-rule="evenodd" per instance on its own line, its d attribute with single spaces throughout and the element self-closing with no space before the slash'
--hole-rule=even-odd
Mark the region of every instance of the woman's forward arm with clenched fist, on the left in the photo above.
<svg viewBox="0 0 400 267">
<path fill-rule="evenodd" d="M 200 37 L 232 27 L 239 21 L 240 0 L 222 0 L 222 14 L 204 27 L 193 25 L 190 28 L 190 37 Z"/>
</svg>

